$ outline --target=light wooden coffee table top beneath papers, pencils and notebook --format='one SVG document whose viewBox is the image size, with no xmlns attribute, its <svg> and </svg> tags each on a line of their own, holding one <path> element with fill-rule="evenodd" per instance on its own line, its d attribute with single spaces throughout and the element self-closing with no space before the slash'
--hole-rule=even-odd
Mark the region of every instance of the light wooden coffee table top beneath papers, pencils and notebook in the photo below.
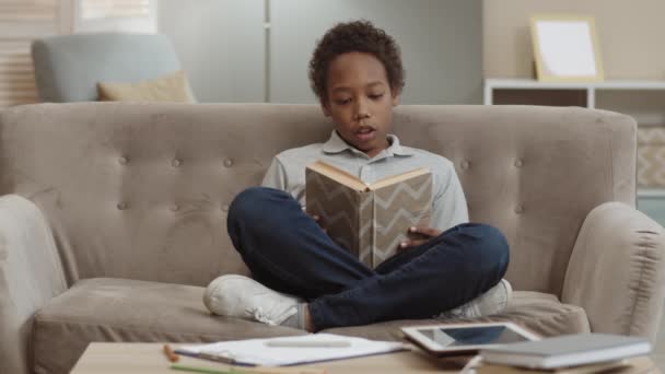
<svg viewBox="0 0 665 374">
<path fill-rule="evenodd" d="M 163 343 L 93 342 L 88 346 L 71 374 L 185 374 L 186 372 L 170 369 L 171 362 L 166 360 L 162 352 L 163 346 Z M 172 347 L 176 346 L 176 343 L 172 344 Z M 468 360 L 468 357 L 436 359 L 415 350 L 290 367 L 325 369 L 327 374 L 457 373 L 464 366 L 466 360 Z M 633 361 L 635 370 L 630 371 L 631 373 L 651 372 L 650 367 L 653 369 L 653 372 L 660 373 L 649 358 L 639 358 Z M 230 367 L 222 363 L 183 355 L 179 357 L 177 363 L 221 371 Z M 621 372 L 621 374 L 623 373 Z"/>
</svg>

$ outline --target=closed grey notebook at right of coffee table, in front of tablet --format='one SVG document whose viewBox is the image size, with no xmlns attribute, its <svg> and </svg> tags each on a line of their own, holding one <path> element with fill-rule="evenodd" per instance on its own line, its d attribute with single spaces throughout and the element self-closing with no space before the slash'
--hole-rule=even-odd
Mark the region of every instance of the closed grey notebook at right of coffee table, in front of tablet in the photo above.
<svg viewBox="0 0 665 374">
<path fill-rule="evenodd" d="M 555 369 L 617 361 L 650 351 L 645 338 L 580 334 L 487 348 L 480 351 L 480 357 L 487 363 Z"/>
</svg>

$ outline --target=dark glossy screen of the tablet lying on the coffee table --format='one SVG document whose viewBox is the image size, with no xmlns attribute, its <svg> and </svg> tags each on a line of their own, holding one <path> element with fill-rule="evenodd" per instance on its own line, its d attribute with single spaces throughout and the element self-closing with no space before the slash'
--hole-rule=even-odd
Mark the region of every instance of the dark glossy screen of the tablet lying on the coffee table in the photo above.
<svg viewBox="0 0 665 374">
<path fill-rule="evenodd" d="M 506 326 L 439 327 L 418 329 L 441 347 L 500 344 L 528 340 Z"/>
</svg>

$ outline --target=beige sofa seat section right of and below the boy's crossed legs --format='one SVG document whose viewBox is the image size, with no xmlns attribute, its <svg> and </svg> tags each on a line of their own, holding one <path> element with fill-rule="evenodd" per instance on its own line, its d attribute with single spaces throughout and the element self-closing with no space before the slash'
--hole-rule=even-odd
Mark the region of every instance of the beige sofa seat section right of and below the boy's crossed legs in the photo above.
<svg viewBox="0 0 665 374">
<path fill-rule="evenodd" d="M 401 326 L 479 322 L 514 322 L 544 337 L 591 331 L 583 308 L 576 305 L 562 304 L 551 294 L 528 291 L 514 292 L 508 308 L 494 316 L 474 319 L 390 320 L 368 326 L 330 328 L 324 331 L 377 340 L 399 340 L 402 338 L 399 330 Z"/>
</svg>

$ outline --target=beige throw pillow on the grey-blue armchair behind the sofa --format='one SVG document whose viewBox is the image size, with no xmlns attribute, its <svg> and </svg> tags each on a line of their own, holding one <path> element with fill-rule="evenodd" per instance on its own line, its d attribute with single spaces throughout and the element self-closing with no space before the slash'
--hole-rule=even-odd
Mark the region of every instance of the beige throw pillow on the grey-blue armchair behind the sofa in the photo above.
<svg viewBox="0 0 665 374">
<path fill-rule="evenodd" d="M 195 103 L 185 72 L 176 72 L 138 83 L 98 82 L 100 101 Z"/>
</svg>

